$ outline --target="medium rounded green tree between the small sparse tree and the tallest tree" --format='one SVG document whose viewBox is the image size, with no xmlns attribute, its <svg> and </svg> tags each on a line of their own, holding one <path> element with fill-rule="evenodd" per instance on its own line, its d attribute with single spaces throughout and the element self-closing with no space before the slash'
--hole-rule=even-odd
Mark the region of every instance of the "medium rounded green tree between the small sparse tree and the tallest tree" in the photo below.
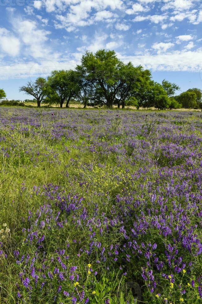
<svg viewBox="0 0 202 304">
<path fill-rule="evenodd" d="M 48 84 L 50 88 L 58 95 L 61 108 L 65 101 L 66 108 L 68 108 L 69 102 L 76 96 L 80 89 L 77 73 L 73 70 L 53 71 L 48 78 Z"/>
</svg>

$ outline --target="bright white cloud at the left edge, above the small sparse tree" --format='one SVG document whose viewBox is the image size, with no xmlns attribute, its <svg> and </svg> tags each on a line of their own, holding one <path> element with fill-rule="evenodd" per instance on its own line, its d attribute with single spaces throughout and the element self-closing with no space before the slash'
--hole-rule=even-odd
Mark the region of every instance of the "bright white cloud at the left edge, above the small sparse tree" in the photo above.
<svg viewBox="0 0 202 304">
<path fill-rule="evenodd" d="M 17 56 L 20 50 L 19 39 L 5 28 L 0 28 L 0 49 L 9 56 Z"/>
</svg>

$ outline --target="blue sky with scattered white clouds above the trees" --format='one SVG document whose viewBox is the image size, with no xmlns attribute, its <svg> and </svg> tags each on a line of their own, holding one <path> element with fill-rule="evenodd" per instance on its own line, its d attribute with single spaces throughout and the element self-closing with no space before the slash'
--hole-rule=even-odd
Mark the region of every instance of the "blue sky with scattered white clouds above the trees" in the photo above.
<svg viewBox="0 0 202 304">
<path fill-rule="evenodd" d="M 0 0 L 0 88 L 28 98 L 28 80 L 108 48 L 155 81 L 202 89 L 201 28 L 201 0 Z"/>
</svg>

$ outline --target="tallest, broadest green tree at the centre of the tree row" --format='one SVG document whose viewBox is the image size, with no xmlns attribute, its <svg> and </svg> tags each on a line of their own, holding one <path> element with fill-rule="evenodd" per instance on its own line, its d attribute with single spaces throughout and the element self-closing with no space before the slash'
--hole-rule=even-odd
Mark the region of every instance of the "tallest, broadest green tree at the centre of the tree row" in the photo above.
<svg viewBox="0 0 202 304">
<path fill-rule="evenodd" d="M 95 54 L 87 51 L 77 70 L 82 71 L 88 85 L 91 86 L 91 99 L 94 105 L 122 104 L 130 95 L 137 74 L 129 62 L 125 65 L 114 51 L 99 50 Z"/>
</svg>

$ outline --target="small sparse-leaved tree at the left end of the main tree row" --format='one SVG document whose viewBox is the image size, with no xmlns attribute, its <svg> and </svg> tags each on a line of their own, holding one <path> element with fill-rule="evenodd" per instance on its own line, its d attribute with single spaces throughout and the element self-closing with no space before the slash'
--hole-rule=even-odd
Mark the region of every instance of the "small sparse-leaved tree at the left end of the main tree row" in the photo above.
<svg viewBox="0 0 202 304">
<path fill-rule="evenodd" d="M 46 79 L 38 77 L 35 82 L 28 81 L 26 86 L 20 87 L 19 92 L 33 96 L 37 100 L 37 107 L 40 107 L 46 97 L 46 85 Z"/>
</svg>

